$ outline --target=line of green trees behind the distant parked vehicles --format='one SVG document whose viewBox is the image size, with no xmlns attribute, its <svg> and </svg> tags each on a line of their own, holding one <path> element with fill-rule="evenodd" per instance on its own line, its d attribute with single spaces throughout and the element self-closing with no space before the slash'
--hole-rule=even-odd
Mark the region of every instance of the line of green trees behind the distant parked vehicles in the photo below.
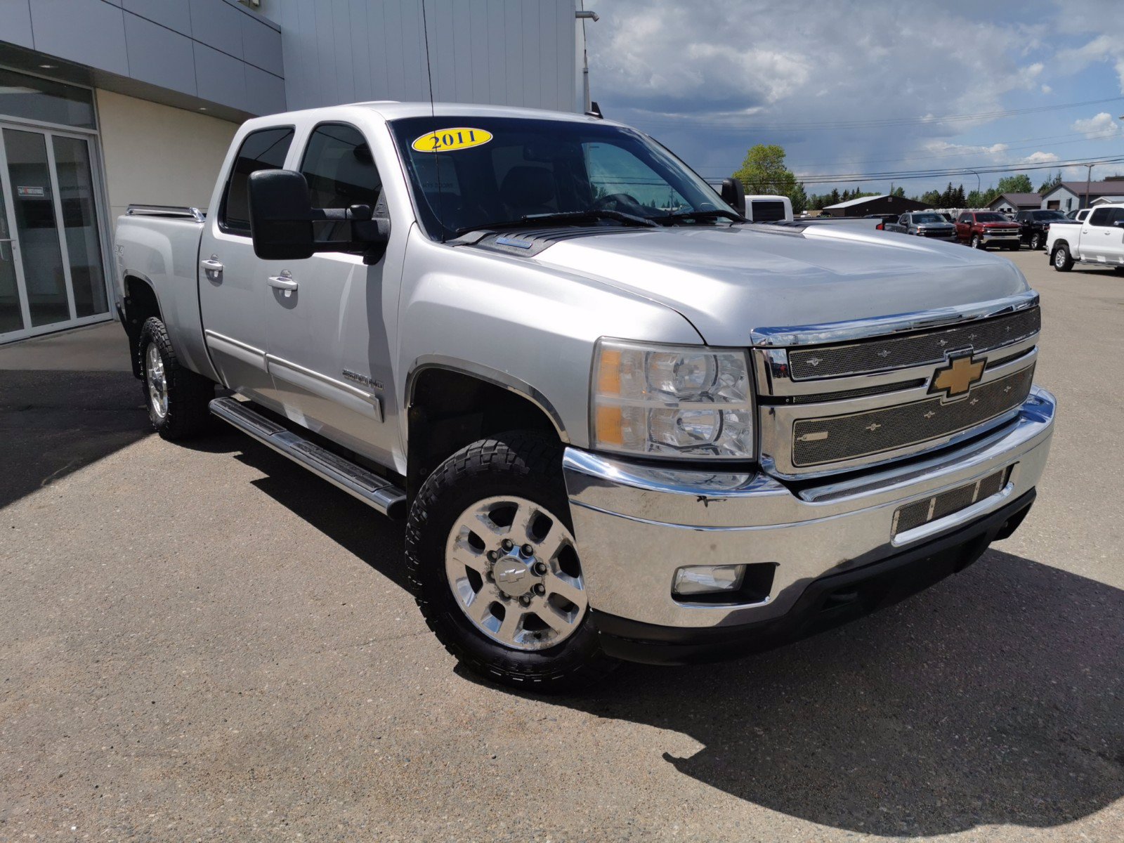
<svg viewBox="0 0 1124 843">
<path fill-rule="evenodd" d="M 830 193 L 808 193 L 804 189 L 804 182 L 798 181 L 796 174 L 785 166 L 785 147 L 777 144 L 758 144 L 745 153 L 742 166 L 734 173 L 745 185 L 746 193 L 770 193 L 773 196 L 788 197 L 792 202 L 792 212 L 800 214 L 805 210 L 823 210 L 830 205 L 845 202 L 849 199 L 861 199 L 868 196 L 882 196 L 880 192 L 863 191 L 859 188 L 853 190 L 844 188 L 840 191 L 833 188 Z M 1005 175 L 999 179 L 999 183 L 986 190 L 972 190 L 964 192 L 964 185 L 949 185 L 944 190 L 927 190 L 921 196 L 910 196 L 918 202 L 924 202 L 931 208 L 985 208 L 994 202 L 1003 193 L 1044 193 L 1048 190 L 1061 184 L 1061 171 L 1051 174 L 1046 173 L 1045 180 L 1039 185 L 1037 191 L 1031 182 L 1031 176 L 1026 173 Z M 890 196 L 905 197 L 905 188 L 890 184 L 888 191 Z"/>
</svg>

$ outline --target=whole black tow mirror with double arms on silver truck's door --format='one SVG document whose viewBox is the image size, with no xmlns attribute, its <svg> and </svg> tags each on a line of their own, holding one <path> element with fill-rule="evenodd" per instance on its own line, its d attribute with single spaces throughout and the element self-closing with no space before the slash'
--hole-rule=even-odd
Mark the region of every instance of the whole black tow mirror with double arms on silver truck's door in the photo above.
<svg viewBox="0 0 1124 843">
<path fill-rule="evenodd" d="M 351 224 L 350 239 L 316 239 L 314 223 L 337 221 Z M 314 208 L 301 173 L 259 170 L 250 174 L 250 234 L 254 254 L 265 261 L 301 261 L 317 252 L 344 252 L 363 255 L 363 263 L 373 264 L 387 251 L 390 219 L 375 217 L 370 205 Z"/>
</svg>

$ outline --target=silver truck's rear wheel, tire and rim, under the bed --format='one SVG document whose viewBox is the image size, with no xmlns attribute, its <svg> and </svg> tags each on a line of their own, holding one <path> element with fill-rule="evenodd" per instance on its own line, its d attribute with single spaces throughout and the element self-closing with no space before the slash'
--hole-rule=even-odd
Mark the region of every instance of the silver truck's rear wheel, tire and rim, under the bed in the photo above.
<svg viewBox="0 0 1124 843">
<path fill-rule="evenodd" d="M 164 323 L 155 316 L 140 328 L 137 354 L 153 429 L 172 441 L 189 438 L 207 429 L 210 425 L 208 404 L 215 397 L 215 384 L 180 363 Z"/>
</svg>

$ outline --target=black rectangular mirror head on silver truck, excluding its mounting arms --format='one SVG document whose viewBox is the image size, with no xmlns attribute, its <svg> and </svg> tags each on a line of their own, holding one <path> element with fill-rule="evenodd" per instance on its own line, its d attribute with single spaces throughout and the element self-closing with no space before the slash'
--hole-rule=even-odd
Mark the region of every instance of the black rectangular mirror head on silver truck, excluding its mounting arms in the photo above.
<svg viewBox="0 0 1124 843">
<path fill-rule="evenodd" d="M 250 174 L 250 236 L 263 261 L 300 261 L 316 251 L 308 182 L 292 170 Z"/>
</svg>

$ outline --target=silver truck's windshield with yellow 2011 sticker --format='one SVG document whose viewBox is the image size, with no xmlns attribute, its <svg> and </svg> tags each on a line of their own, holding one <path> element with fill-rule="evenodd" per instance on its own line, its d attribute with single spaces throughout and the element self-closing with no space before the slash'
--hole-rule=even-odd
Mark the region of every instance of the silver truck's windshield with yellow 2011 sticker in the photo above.
<svg viewBox="0 0 1124 843">
<path fill-rule="evenodd" d="M 390 129 L 435 239 L 498 224 L 715 225 L 737 212 L 650 138 L 522 117 L 411 117 Z M 531 220 L 525 218 L 531 217 Z"/>
</svg>

